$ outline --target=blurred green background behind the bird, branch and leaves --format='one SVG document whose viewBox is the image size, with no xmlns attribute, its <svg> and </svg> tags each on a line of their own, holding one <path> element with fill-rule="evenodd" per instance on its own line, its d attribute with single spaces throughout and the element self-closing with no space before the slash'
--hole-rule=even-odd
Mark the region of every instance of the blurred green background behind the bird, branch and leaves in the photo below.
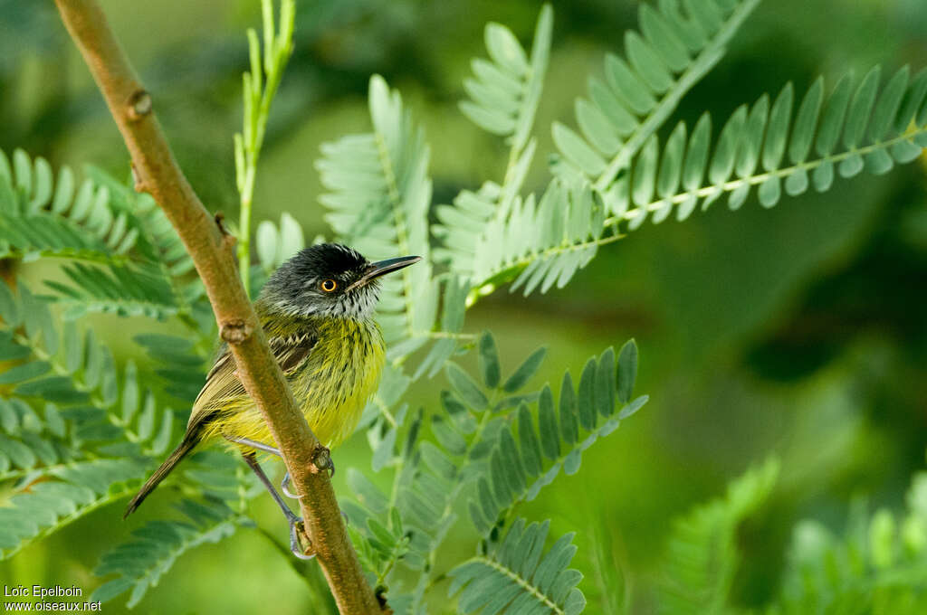
<svg viewBox="0 0 927 615">
<path fill-rule="evenodd" d="M 161 0 L 101 3 L 153 94 L 174 151 L 210 209 L 236 217 L 232 134 L 240 130 L 244 31 L 259 3 Z M 573 123 L 576 96 L 603 53 L 620 52 L 639 3 L 553 3 L 552 59 L 539 118 L 539 156 L 528 190 L 548 177 L 550 123 Z M 432 147 L 434 202 L 499 180 L 507 152 L 457 110 L 469 60 L 484 56 L 490 20 L 530 43 L 540 3 L 323 0 L 298 3 L 294 56 L 268 128 L 255 218 L 289 211 L 308 238 L 326 233 L 313 168 L 319 145 L 368 130 L 366 86 L 380 73 L 413 109 Z M 777 0 L 759 6 L 726 58 L 688 94 L 678 119 L 710 110 L 716 125 L 735 107 L 792 81 L 803 93 L 823 74 L 882 63 L 927 66 L 922 0 Z M 667 122 L 672 127 L 675 121 Z M 117 176 L 128 157 L 102 99 L 50 2 L 0 0 L 0 147 L 23 147 L 53 166 L 93 162 Z M 717 132 L 717 128 L 716 128 Z M 882 177 L 838 182 L 826 195 L 785 199 L 763 210 L 751 198 L 718 203 L 684 223 L 667 221 L 604 247 L 565 289 L 527 299 L 504 290 L 480 302 L 466 329 L 489 328 L 511 370 L 539 343 L 549 347 L 536 383 L 578 374 L 606 345 L 633 336 L 641 348 L 638 391 L 651 402 L 587 454 L 526 510 L 552 517 L 553 532 L 578 531 L 574 566 L 591 573 L 593 534 L 608 534 L 635 611 L 654 608 L 650 587 L 670 520 L 717 496 L 770 454 L 783 461 L 770 503 L 741 536 L 746 562 L 734 587 L 743 606 L 775 593 L 795 521 L 840 530 L 851 496 L 900 505 L 927 446 L 927 176 L 916 162 Z M 38 277 L 25 268 L 27 279 Z M 111 321 L 115 317 L 100 317 Z M 118 323 L 108 342 L 137 353 Z M 414 404 L 433 406 L 442 386 L 419 383 Z M 358 434 L 337 452 L 339 468 L 368 468 Z M 336 476 L 344 490 L 345 472 Z M 166 505 L 164 505 L 166 506 Z M 283 533 L 269 498 L 254 503 L 261 525 Z M 78 584 L 113 536 L 158 513 L 121 522 L 106 508 L 0 563 L 4 584 Z M 449 552 L 471 548 L 451 535 Z M 302 564 L 298 564 L 302 565 Z M 313 563 L 309 564 L 314 565 Z M 581 584 L 589 612 L 601 599 Z M 243 531 L 181 559 L 133 612 L 306 612 L 307 588 L 259 533 Z M 104 607 L 121 612 L 120 601 Z"/>
</svg>

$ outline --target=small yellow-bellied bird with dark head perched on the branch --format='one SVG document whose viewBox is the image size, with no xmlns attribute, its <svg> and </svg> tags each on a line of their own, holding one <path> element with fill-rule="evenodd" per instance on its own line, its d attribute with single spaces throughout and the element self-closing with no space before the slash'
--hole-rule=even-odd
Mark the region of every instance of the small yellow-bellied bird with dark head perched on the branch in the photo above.
<svg viewBox="0 0 927 615">
<path fill-rule="evenodd" d="M 376 391 L 386 348 L 374 320 L 379 278 L 408 267 L 421 257 L 370 262 L 346 245 L 312 245 L 291 257 L 261 289 L 254 309 L 309 422 L 312 433 L 328 448 L 343 442 L 357 426 L 367 400 Z M 260 410 L 235 375 L 235 359 L 227 345 L 197 395 L 180 445 L 129 502 L 128 517 L 195 447 L 224 439 L 238 449 L 270 490 L 290 522 L 290 548 L 300 558 L 296 532 L 299 520 L 260 469 L 257 451 L 280 452 L 267 443 L 270 430 Z M 334 465 L 330 465 L 334 471 Z M 284 479 L 283 490 L 287 495 Z"/>
</svg>

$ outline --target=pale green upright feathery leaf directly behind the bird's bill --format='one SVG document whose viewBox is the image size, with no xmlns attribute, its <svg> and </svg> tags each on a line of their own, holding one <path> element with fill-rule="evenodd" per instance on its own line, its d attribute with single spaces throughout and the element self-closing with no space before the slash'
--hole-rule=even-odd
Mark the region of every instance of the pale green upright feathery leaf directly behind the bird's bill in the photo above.
<svg viewBox="0 0 927 615">
<path fill-rule="evenodd" d="M 379 322 L 387 341 L 405 340 L 406 354 L 425 344 L 417 333 L 431 331 L 438 308 L 426 226 L 429 151 L 400 94 L 379 76 L 370 81 L 370 115 L 374 132 L 323 145 L 316 167 L 330 192 L 320 200 L 331 210 L 326 220 L 335 232 L 364 256 L 423 257 L 383 282 Z"/>
</svg>

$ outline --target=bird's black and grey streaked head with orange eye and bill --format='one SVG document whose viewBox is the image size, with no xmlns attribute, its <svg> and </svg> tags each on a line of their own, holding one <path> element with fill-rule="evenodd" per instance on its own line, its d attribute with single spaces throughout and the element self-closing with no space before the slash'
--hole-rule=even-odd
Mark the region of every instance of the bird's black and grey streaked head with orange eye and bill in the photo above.
<svg viewBox="0 0 927 615">
<path fill-rule="evenodd" d="M 273 272 L 260 292 L 260 301 L 290 316 L 364 320 L 374 314 L 380 276 L 421 259 L 370 262 L 347 245 L 312 245 Z"/>
</svg>

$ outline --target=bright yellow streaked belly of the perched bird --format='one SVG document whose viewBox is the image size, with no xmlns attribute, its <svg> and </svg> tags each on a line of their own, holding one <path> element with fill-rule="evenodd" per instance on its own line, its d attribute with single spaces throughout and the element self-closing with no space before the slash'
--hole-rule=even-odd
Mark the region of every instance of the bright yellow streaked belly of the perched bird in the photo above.
<svg viewBox="0 0 927 615">
<path fill-rule="evenodd" d="M 325 323 L 318 334 L 309 358 L 287 375 L 287 381 L 312 433 L 324 446 L 334 448 L 354 432 L 376 392 L 386 349 L 374 321 L 336 320 Z M 226 405 L 223 414 L 221 424 L 216 424 L 222 433 L 273 446 L 270 429 L 250 397 Z M 208 433 L 208 437 L 216 435 L 220 433 Z"/>
</svg>

